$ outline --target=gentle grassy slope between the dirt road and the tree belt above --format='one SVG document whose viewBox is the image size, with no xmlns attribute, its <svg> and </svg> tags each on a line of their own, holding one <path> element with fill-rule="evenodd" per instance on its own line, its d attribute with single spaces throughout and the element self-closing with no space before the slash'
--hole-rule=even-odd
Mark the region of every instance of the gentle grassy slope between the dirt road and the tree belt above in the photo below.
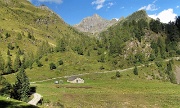
<svg viewBox="0 0 180 108">
<path fill-rule="evenodd" d="M 45 61 L 45 58 L 48 58 L 48 61 Z M 61 59 L 64 64 L 58 65 L 58 61 Z M 49 64 L 52 62 L 56 64 L 57 69 L 50 70 Z M 37 67 L 37 64 L 34 63 L 32 69 L 26 69 L 26 73 L 31 82 L 65 75 L 111 70 L 108 63 L 97 62 L 97 59 L 94 56 L 81 56 L 71 51 L 48 54 L 41 59 L 41 63 L 43 64 L 43 67 Z M 104 70 L 100 70 L 102 65 L 105 68 Z M 5 75 L 5 77 L 9 82 L 13 83 L 16 78 L 16 73 Z"/>
</svg>

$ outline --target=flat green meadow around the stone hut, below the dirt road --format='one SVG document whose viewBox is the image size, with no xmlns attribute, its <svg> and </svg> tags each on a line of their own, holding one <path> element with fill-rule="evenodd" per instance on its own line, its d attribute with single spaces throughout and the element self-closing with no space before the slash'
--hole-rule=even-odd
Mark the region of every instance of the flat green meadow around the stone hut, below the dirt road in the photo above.
<svg viewBox="0 0 180 108">
<path fill-rule="evenodd" d="M 55 85 L 54 81 L 36 83 L 37 92 L 43 95 L 43 107 L 150 107 L 178 108 L 180 86 L 143 77 L 152 67 L 140 68 L 139 76 L 132 70 L 121 73 L 119 79 L 111 79 L 115 73 L 83 76 L 84 84 Z M 57 79 L 56 79 L 57 80 Z"/>
</svg>

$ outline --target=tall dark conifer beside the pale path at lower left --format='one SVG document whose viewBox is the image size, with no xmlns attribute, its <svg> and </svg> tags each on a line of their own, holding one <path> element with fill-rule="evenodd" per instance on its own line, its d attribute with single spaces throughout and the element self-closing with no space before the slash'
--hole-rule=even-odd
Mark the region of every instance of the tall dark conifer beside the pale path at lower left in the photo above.
<svg viewBox="0 0 180 108">
<path fill-rule="evenodd" d="M 24 66 L 21 66 L 16 76 L 16 82 L 13 85 L 11 97 L 21 101 L 27 101 L 30 92 L 29 79 L 25 73 Z"/>
</svg>

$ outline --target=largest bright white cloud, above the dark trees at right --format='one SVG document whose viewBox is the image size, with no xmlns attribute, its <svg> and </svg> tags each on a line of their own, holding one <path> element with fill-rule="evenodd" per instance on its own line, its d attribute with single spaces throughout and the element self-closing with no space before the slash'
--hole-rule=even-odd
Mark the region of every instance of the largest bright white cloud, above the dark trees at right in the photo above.
<svg viewBox="0 0 180 108">
<path fill-rule="evenodd" d="M 170 21 L 175 21 L 175 17 L 177 16 L 177 14 L 175 14 L 173 12 L 173 9 L 170 8 L 167 10 L 163 10 L 159 14 L 148 15 L 148 16 L 153 18 L 153 19 L 159 18 L 161 22 L 168 23 Z"/>
</svg>

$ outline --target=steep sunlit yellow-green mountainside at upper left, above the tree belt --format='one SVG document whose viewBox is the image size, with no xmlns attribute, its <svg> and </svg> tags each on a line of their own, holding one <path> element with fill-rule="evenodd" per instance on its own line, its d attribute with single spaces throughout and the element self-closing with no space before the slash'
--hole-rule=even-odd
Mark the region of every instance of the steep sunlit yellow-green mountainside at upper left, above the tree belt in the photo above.
<svg viewBox="0 0 180 108">
<path fill-rule="evenodd" d="M 35 7 L 27 0 L 0 0 L 0 6 L 0 49 L 3 55 L 8 44 L 14 47 L 11 51 L 14 54 L 17 47 L 25 52 L 36 51 L 43 41 L 54 47 L 57 39 L 62 37 L 68 37 L 67 41 L 73 45 L 72 41 L 81 40 L 83 35 L 46 6 Z"/>
</svg>

